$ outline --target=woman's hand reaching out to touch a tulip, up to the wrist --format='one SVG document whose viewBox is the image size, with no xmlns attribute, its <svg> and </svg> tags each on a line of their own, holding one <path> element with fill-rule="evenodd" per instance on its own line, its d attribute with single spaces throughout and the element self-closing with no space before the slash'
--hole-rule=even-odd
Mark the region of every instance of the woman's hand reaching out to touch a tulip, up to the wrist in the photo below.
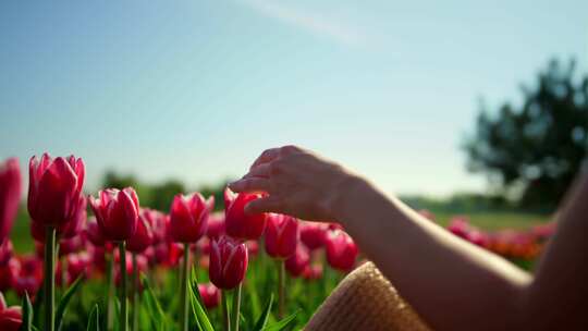
<svg viewBox="0 0 588 331">
<path fill-rule="evenodd" d="M 264 151 L 243 179 L 229 187 L 234 192 L 265 192 L 245 210 L 279 212 L 305 220 L 334 221 L 335 205 L 353 186 L 356 176 L 336 163 L 295 146 Z"/>
</svg>

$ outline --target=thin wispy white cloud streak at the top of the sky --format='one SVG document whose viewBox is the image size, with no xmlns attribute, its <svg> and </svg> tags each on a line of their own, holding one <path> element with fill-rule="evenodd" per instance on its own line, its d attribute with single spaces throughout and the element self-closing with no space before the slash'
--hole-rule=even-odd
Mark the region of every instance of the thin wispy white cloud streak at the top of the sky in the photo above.
<svg viewBox="0 0 588 331">
<path fill-rule="evenodd" d="M 358 30 L 347 25 L 316 13 L 287 7 L 279 1 L 243 0 L 242 2 L 267 17 L 298 26 L 313 34 L 328 37 L 343 45 L 360 46 L 365 41 L 364 36 Z"/>
</svg>

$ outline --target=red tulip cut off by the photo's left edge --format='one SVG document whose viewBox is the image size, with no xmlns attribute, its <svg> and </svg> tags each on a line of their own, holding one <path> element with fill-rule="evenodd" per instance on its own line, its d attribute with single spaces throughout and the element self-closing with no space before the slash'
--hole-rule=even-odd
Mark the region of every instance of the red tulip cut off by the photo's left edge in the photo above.
<svg viewBox="0 0 588 331">
<path fill-rule="evenodd" d="M 21 200 L 21 169 L 16 158 L 0 163 L 0 244 L 9 236 Z"/>
</svg>

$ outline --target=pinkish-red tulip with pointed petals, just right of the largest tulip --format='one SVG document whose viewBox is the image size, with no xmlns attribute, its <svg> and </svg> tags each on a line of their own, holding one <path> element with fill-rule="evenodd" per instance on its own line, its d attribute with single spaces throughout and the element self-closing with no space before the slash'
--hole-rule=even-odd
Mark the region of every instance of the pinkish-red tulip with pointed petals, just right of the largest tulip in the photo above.
<svg viewBox="0 0 588 331">
<path fill-rule="evenodd" d="M 90 206 L 107 240 L 127 241 L 135 234 L 139 203 L 135 189 L 107 188 L 90 197 Z"/>
</svg>

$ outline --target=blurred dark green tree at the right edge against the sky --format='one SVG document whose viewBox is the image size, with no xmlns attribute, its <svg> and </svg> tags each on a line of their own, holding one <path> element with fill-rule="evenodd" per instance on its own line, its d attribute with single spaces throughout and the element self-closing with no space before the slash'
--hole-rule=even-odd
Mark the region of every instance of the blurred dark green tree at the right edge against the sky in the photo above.
<svg viewBox="0 0 588 331">
<path fill-rule="evenodd" d="M 502 193 L 518 191 L 526 207 L 554 206 L 578 171 L 588 149 L 588 75 L 576 63 L 552 60 L 524 102 L 482 107 L 476 133 L 466 140 L 468 170 L 489 175 Z"/>
</svg>

